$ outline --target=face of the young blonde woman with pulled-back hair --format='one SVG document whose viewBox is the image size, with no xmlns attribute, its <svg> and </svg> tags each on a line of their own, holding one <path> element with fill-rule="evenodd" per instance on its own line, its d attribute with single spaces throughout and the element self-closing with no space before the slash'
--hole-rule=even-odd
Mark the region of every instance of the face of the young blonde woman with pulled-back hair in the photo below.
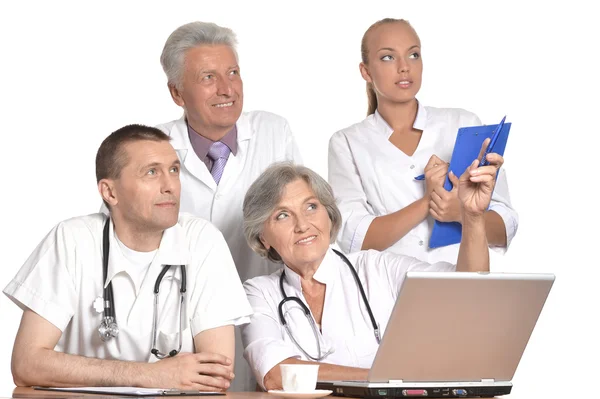
<svg viewBox="0 0 600 399">
<path fill-rule="evenodd" d="M 379 104 L 412 101 L 421 88 L 421 42 L 404 22 L 380 25 L 367 36 L 368 64 L 360 64 Z"/>
</svg>

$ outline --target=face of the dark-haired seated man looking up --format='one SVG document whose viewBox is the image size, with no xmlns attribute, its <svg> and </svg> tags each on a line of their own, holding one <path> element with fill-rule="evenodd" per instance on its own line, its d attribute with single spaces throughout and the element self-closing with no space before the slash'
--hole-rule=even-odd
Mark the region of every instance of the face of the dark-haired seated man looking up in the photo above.
<svg viewBox="0 0 600 399">
<path fill-rule="evenodd" d="M 136 230 L 163 231 L 179 215 L 179 158 L 168 141 L 124 144 L 125 166 L 113 180 L 111 212 Z"/>
</svg>

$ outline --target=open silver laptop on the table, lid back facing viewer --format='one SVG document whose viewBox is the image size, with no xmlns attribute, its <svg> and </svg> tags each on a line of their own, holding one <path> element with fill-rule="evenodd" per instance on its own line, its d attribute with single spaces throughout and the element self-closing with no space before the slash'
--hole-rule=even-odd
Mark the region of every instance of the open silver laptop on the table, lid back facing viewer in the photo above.
<svg viewBox="0 0 600 399">
<path fill-rule="evenodd" d="M 319 381 L 337 396 L 509 394 L 553 274 L 408 272 L 367 381 Z"/>
</svg>

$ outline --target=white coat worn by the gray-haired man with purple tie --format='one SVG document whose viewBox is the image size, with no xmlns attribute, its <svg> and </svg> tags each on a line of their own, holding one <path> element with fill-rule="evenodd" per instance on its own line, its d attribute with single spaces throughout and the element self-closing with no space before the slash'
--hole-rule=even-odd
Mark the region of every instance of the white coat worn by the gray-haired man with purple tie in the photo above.
<svg viewBox="0 0 600 399">
<path fill-rule="evenodd" d="M 250 249 L 244 237 L 242 205 L 248 187 L 273 162 L 301 163 L 287 121 L 264 111 L 242 113 L 236 123 L 238 151 L 229 155 L 219 185 L 192 148 L 185 118 L 157 126 L 171 136 L 181 160 L 181 211 L 210 220 L 221 230 L 243 281 L 272 273 L 276 265 Z M 243 358 L 236 329 L 236 378 L 231 391 L 252 391 L 255 382 Z"/>
</svg>

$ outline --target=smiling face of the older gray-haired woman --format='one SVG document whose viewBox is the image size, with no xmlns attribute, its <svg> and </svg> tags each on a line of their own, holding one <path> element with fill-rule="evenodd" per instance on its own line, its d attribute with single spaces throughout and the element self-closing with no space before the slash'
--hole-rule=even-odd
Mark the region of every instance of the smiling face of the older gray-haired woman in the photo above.
<svg viewBox="0 0 600 399">
<path fill-rule="evenodd" d="M 310 186 L 298 179 L 285 187 L 263 226 L 261 241 L 298 274 L 316 270 L 329 249 L 331 220 Z"/>
</svg>

